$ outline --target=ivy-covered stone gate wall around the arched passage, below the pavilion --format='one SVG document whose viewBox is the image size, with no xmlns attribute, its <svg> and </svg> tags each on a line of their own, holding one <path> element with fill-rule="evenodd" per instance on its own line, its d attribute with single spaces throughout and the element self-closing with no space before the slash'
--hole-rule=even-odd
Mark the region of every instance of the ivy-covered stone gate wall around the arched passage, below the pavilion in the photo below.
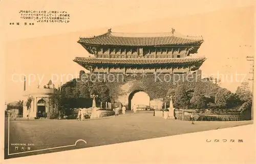
<svg viewBox="0 0 256 164">
<path fill-rule="evenodd" d="M 112 75 L 118 76 L 118 74 Z M 201 73 L 197 74 L 196 72 L 191 75 L 194 81 L 201 79 Z M 150 105 L 148 106 L 150 106 L 151 109 L 158 110 L 163 106 L 162 101 L 167 94 L 168 88 L 175 87 L 176 83 L 179 80 L 182 82 L 183 79 L 186 79 L 188 74 L 174 74 L 172 75 L 172 81 L 164 81 L 165 74 L 160 74 L 158 81 L 155 80 L 155 76 L 158 75 L 148 74 L 145 77 L 140 74 L 135 77 L 133 75 L 126 75 L 123 81 L 106 81 L 106 85 L 109 87 L 110 95 L 112 100 L 114 100 L 113 102 L 125 105 L 127 110 L 132 109 L 131 100 L 139 91 L 145 92 L 150 97 Z"/>
</svg>

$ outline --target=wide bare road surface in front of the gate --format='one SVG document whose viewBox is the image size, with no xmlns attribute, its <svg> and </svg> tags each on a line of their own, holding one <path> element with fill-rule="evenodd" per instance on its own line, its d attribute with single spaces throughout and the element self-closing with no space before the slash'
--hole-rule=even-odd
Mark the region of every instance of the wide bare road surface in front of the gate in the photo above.
<svg viewBox="0 0 256 164">
<path fill-rule="evenodd" d="M 61 146 L 77 146 L 58 148 L 53 150 L 36 151 L 15 154 L 10 157 L 35 155 L 77 148 L 102 146 L 141 139 L 178 135 L 184 133 L 228 128 L 250 124 L 252 121 L 240 122 L 195 122 L 180 120 L 164 120 L 153 116 L 152 113 L 135 113 L 127 115 L 109 116 L 94 120 L 16 120 L 10 121 L 10 145 L 32 144 L 30 151 Z M 8 119 L 6 118 L 6 139 L 8 139 Z M 7 140 L 6 140 L 6 143 Z M 7 151 L 6 144 L 6 151 Z M 28 146 L 27 146 L 28 147 Z M 26 147 L 26 149 L 27 149 Z M 19 147 L 20 149 L 21 147 Z M 27 150 L 15 150 L 10 146 L 10 153 Z"/>
</svg>

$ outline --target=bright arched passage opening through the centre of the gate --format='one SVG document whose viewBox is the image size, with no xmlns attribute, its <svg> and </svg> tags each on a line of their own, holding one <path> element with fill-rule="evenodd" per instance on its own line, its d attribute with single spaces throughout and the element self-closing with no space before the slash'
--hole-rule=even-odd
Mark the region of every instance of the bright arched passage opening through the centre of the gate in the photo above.
<svg viewBox="0 0 256 164">
<path fill-rule="evenodd" d="M 143 90 L 134 90 L 128 97 L 129 110 L 133 110 L 133 106 L 137 110 L 145 110 L 150 108 L 150 96 Z"/>
</svg>

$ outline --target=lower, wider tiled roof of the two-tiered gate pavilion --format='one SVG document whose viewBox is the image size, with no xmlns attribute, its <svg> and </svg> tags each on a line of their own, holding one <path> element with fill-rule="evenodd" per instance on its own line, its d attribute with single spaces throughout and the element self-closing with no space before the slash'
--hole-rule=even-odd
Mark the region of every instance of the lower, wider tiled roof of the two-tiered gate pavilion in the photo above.
<svg viewBox="0 0 256 164">
<path fill-rule="evenodd" d="M 85 58 L 85 57 L 76 57 L 73 61 L 78 64 L 86 65 L 164 65 L 164 64 L 173 64 L 173 65 L 193 65 L 196 63 L 203 63 L 206 60 L 205 57 L 185 57 L 185 58 L 154 58 L 154 59 L 115 59 L 115 58 Z"/>
</svg>

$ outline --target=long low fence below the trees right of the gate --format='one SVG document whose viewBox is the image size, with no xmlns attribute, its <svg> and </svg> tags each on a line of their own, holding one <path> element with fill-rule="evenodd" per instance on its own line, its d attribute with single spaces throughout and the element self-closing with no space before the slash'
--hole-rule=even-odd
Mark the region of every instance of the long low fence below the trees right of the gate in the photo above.
<svg viewBox="0 0 256 164">
<path fill-rule="evenodd" d="M 175 111 L 177 120 L 190 121 L 191 113 Z M 245 121 L 250 120 L 249 113 L 196 113 L 194 112 L 195 121 Z"/>
</svg>

